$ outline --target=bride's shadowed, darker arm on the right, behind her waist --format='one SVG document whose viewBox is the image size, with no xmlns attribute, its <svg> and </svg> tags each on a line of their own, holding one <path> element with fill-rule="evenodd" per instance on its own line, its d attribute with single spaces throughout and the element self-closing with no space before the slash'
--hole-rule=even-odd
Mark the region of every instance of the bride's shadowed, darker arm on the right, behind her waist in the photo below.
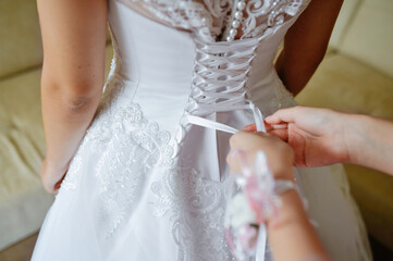
<svg viewBox="0 0 393 261">
<path fill-rule="evenodd" d="M 284 39 L 275 63 L 286 88 L 297 95 L 311 78 L 326 53 L 343 0 L 311 0 Z"/>
</svg>

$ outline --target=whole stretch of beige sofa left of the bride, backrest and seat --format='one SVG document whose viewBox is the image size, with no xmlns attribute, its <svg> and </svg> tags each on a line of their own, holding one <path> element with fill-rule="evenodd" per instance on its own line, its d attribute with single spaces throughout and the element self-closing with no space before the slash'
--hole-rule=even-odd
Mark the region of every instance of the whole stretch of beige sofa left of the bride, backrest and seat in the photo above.
<svg viewBox="0 0 393 261">
<path fill-rule="evenodd" d="M 41 61 L 35 1 L 0 1 L 0 249 L 35 233 L 52 202 L 39 179 Z"/>
</svg>

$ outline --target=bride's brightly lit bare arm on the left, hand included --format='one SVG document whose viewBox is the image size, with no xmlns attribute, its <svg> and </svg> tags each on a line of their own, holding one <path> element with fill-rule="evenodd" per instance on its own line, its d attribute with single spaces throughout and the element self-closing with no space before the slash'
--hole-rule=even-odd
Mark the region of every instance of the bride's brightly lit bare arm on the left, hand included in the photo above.
<svg viewBox="0 0 393 261">
<path fill-rule="evenodd" d="M 44 44 L 41 178 L 54 192 L 97 110 L 105 77 L 107 0 L 38 0 Z"/>
</svg>

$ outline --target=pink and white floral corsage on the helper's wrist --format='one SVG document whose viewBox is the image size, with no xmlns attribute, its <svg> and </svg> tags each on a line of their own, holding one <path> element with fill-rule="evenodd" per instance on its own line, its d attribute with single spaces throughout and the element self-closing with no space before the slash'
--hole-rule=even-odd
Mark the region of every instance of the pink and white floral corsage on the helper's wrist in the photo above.
<svg viewBox="0 0 393 261">
<path fill-rule="evenodd" d="M 230 199 L 225 212 L 225 236 L 232 253 L 238 260 L 255 256 L 259 228 L 278 216 L 281 207 L 279 195 L 296 189 L 291 181 L 274 179 L 268 167 L 267 157 L 258 151 L 254 166 L 242 150 L 235 151 L 242 174 L 232 175 Z"/>
</svg>

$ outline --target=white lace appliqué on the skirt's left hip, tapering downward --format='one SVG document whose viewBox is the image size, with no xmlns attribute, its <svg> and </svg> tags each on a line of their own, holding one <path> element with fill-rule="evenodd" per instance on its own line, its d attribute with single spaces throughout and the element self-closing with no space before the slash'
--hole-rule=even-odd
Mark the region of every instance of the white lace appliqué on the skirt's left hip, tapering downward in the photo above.
<svg viewBox="0 0 393 261">
<path fill-rule="evenodd" d="M 171 136 L 143 117 L 138 104 L 112 108 L 97 116 L 86 139 L 93 151 L 102 151 L 95 170 L 100 195 L 98 226 L 105 238 L 115 232 L 139 201 L 150 170 L 171 165 Z"/>
</svg>

